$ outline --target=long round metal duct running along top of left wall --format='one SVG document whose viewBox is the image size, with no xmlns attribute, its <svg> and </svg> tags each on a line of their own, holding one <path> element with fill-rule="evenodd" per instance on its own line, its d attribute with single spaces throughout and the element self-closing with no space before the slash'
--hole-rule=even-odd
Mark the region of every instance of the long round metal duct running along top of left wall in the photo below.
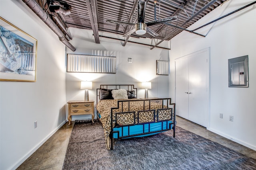
<svg viewBox="0 0 256 170">
<path fill-rule="evenodd" d="M 60 41 L 66 45 L 70 50 L 76 51 L 76 48 L 68 42 L 64 33 L 54 23 L 54 21 L 48 16 L 46 12 L 36 3 L 35 0 L 22 0 L 56 35 L 58 35 Z"/>
</svg>

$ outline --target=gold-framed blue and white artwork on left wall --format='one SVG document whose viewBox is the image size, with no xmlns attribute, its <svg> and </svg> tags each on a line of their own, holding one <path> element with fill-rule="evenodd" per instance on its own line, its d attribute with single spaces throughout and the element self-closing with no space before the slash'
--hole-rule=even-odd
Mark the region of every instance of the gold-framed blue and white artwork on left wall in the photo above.
<svg viewBox="0 0 256 170">
<path fill-rule="evenodd" d="M 0 80 L 36 82 L 37 40 L 0 17 Z"/>
</svg>

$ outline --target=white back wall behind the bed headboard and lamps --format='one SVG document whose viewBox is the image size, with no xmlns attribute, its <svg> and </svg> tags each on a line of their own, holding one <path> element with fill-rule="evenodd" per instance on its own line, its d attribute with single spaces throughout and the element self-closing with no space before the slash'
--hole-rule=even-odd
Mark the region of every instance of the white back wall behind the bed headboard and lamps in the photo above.
<svg viewBox="0 0 256 170">
<path fill-rule="evenodd" d="M 89 90 L 90 100 L 96 103 L 96 88 L 100 84 L 134 84 L 138 88 L 138 98 L 144 98 L 145 90 L 140 82 L 152 82 L 152 89 L 148 90 L 149 97 L 168 97 L 168 76 L 156 75 L 156 60 L 169 60 L 166 49 L 154 48 L 136 43 L 127 43 L 125 47 L 121 41 L 100 38 L 96 44 L 93 32 L 85 29 L 70 28 L 76 51 L 67 49 L 68 54 L 86 54 L 116 57 L 116 74 L 102 73 L 66 73 L 66 100 L 83 100 L 84 90 L 80 90 L 80 81 L 92 81 L 93 89 Z M 128 63 L 132 58 L 132 63 Z M 68 113 L 68 112 L 67 112 Z M 90 115 L 73 116 L 72 120 L 80 118 L 90 119 Z"/>
</svg>

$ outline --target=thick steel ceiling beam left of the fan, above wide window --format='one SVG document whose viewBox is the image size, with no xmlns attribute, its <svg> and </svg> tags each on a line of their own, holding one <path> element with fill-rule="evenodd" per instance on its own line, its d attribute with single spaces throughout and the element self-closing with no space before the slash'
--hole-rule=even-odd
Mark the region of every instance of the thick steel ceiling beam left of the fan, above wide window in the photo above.
<svg viewBox="0 0 256 170">
<path fill-rule="evenodd" d="M 97 7 L 97 0 L 86 0 L 86 5 L 90 17 L 90 22 L 92 25 L 92 31 L 95 39 L 95 43 L 100 43 L 99 38 L 99 30 L 98 30 L 98 20 L 97 20 L 97 14 L 98 14 L 98 7 Z"/>
</svg>

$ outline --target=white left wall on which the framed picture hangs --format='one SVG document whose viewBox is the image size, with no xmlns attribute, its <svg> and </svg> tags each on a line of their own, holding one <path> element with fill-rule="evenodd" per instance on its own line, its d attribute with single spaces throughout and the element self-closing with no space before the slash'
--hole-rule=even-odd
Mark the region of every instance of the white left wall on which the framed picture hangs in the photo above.
<svg viewBox="0 0 256 170">
<path fill-rule="evenodd" d="M 0 16 L 38 40 L 36 82 L 0 82 L 0 169 L 8 170 L 66 122 L 65 45 L 22 1 L 0 0 Z"/>
</svg>

